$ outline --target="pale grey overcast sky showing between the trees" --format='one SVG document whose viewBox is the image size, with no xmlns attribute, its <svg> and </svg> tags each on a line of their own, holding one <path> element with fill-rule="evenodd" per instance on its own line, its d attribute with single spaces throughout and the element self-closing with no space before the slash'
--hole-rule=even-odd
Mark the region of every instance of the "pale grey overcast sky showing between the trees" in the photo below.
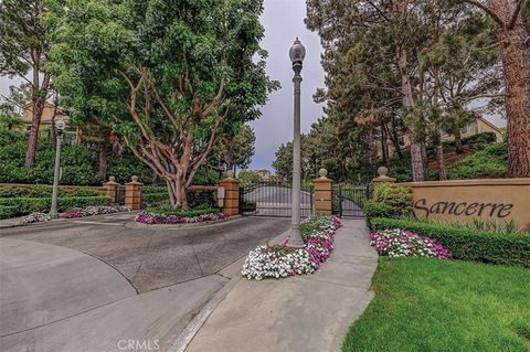
<svg viewBox="0 0 530 352">
<path fill-rule="evenodd" d="M 282 143 L 293 139 L 293 70 L 289 47 L 298 36 L 306 46 L 306 58 L 301 76 L 301 132 L 308 132 L 310 125 L 322 116 L 322 105 L 312 102 L 312 94 L 324 87 L 324 71 L 320 66 L 321 46 L 318 34 L 306 29 L 305 0 L 265 0 L 262 23 L 265 39 L 262 46 L 268 51 L 267 73 L 282 83 L 282 89 L 273 93 L 263 117 L 253 121 L 256 134 L 256 154 L 251 169 L 269 169 L 275 152 Z M 9 93 L 13 82 L 0 77 L 0 95 Z M 497 126 L 506 126 L 506 120 L 498 117 L 488 118 Z"/>
</svg>

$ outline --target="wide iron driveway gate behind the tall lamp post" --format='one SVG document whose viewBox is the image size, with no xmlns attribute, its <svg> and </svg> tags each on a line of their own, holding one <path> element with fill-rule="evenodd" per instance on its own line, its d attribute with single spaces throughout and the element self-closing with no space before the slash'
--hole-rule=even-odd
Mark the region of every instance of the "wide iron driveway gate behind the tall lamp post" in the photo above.
<svg viewBox="0 0 530 352">
<path fill-rule="evenodd" d="M 293 186 L 278 182 L 246 183 L 240 186 L 240 213 L 254 216 L 292 216 Z M 312 214 L 312 185 L 300 188 L 300 215 Z"/>
</svg>

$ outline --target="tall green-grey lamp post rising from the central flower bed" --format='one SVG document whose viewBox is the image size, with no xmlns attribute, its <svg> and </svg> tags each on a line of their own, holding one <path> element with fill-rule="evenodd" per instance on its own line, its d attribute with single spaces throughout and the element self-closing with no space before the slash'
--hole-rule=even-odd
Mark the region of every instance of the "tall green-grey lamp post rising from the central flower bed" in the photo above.
<svg viewBox="0 0 530 352">
<path fill-rule="evenodd" d="M 293 83 L 295 84 L 295 121 L 293 138 L 293 215 L 287 246 L 301 248 L 305 247 L 305 244 L 300 235 L 300 72 L 304 57 L 306 56 L 306 49 L 301 45 L 298 38 L 290 47 L 289 56 L 293 62 L 293 71 L 295 72 L 295 76 L 293 77 Z"/>
</svg>

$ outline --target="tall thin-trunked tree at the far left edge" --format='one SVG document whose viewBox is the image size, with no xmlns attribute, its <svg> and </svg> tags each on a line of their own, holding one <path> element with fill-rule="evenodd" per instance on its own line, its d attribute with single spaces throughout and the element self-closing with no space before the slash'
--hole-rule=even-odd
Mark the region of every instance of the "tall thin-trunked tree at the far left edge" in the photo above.
<svg viewBox="0 0 530 352">
<path fill-rule="evenodd" d="M 44 0 L 0 1 L 0 75 L 19 77 L 31 90 L 33 110 L 25 166 L 35 162 L 39 126 L 51 86 L 44 72 L 51 42 L 44 23 Z"/>
</svg>

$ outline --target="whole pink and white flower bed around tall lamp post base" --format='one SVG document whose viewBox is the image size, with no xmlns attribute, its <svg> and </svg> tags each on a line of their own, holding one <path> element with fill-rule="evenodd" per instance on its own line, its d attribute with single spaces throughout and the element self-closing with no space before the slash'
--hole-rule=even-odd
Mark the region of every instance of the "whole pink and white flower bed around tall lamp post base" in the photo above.
<svg viewBox="0 0 530 352">
<path fill-rule="evenodd" d="M 312 216 L 300 223 L 304 248 L 287 247 L 287 239 L 277 246 L 259 246 L 248 253 L 242 275 L 248 279 L 280 278 L 315 273 L 333 250 L 335 232 L 340 218 Z"/>
</svg>

